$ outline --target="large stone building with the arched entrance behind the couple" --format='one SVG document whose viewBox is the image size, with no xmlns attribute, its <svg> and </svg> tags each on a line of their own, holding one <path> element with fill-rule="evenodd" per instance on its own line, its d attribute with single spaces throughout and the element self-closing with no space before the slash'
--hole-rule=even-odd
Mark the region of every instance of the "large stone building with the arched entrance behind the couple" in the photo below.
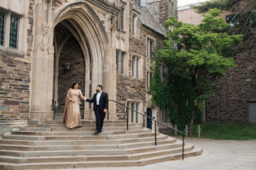
<svg viewBox="0 0 256 170">
<path fill-rule="evenodd" d="M 176 0 L 1 0 L 0 120 L 53 119 L 73 82 L 87 97 L 102 84 L 109 99 L 150 115 L 152 52 L 170 14 Z M 89 103 L 81 108 L 94 118 Z M 109 117 L 125 111 L 110 101 Z"/>
</svg>

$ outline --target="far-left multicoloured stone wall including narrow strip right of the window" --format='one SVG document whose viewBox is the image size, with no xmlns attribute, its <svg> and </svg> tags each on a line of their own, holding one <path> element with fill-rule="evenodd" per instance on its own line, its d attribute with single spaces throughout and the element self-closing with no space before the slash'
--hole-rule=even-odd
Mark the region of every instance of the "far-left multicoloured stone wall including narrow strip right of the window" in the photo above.
<svg viewBox="0 0 256 170">
<path fill-rule="evenodd" d="M 29 119 L 31 85 L 31 53 L 33 45 L 34 0 L 27 12 L 28 25 L 25 52 L 0 48 L 0 120 Z"/>
</svg>

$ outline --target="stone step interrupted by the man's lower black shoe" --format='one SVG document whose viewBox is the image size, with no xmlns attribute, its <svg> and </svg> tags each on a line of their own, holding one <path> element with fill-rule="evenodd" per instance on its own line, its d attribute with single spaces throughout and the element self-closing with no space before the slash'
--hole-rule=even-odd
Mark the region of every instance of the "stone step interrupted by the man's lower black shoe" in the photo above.
<svg viewBox="0 0 256 170">
<path fill-rule="evenodd" d="M 140 130 L 129 130 L 129 131 L 103 131 L 101 134 L 103 135 L 114 135 L 114 134 L 131 134 L 131 133 L 151 133 L 151 129 L 140 129 Z M 85 132 L 77 132 L 77 131 L 67 131 L 67 132 L 37 132 L 37 131 L 12 131 L 14 135 L 34 135 L 34 136 L 80 136 L 80 135 L 93 135 L 95 133 L 94 130 L 85 131 Z"/>
</svg>

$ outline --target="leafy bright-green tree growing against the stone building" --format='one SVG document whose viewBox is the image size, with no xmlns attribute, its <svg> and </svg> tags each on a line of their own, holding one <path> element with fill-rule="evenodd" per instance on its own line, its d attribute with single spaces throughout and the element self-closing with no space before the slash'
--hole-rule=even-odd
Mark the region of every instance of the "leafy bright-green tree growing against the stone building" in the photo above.
<svg viewBox="0 0 256 170">
<path fill-rule="evenodd" d="M 202 101 L 212 96 L 212 78 L 235 67 L 234 59 L 228 56 L 241 43 L 241 35 L 223 31 L 229 25 L 219 18 L 219 9 L 210 9 L 209 14 L 202 15 L 204 20 L 199 26 L 185 24 L 172 16 L 166 20 L 169 31 L 164 47 L 155 54 L 150 88 L 154 104 L 171 107 L 171 122 L 178 119 L 181 127 L 184 122 L 189 124 L 189 134 Z M 160 78 L 160 65 L 168 68 L 168 82 Z"/>
</svg>

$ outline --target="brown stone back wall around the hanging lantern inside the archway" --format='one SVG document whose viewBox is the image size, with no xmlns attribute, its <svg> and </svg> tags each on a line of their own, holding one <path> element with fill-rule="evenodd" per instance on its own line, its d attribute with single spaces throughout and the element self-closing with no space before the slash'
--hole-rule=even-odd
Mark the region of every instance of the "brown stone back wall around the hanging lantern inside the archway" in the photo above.
<svg viewBox="0 0 256 170">
<path fill-rule="evenodd" d="M 64 69 L 64 65 L 66 62 L 69 62 L 71 65 L 71 69 L 69 71 L 65 71 Z M 71 88 L 73 82 L 79 82 L 79 88 L 84 95 L 84 54 L 79 46 L 79 42 L 74 37 L 69 38 L 64 47 L 62 48 L 58 69 L 58 99 L 59 104 L 63 106 L 65 105 L 67 90 Z"/>
</svg>

